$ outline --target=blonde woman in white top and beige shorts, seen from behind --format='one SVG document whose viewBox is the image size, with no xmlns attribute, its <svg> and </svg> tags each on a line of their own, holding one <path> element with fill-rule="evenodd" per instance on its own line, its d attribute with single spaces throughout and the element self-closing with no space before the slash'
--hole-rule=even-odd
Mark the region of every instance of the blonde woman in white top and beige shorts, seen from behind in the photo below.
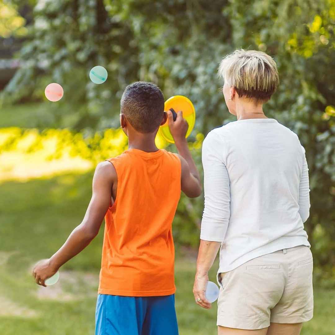
<svg viewBox="0 0 335 335">
<path fill-rule="evenodd" d="M 218 334 L 298 335 L 313 317 L 305 149 L 294 132 L 264 115 L 279 83 L 270 56 L 236 50 L 221 61 L 219 75 L 237 121 L 213 129 L 203 142 L 194 297 L 211 307 L 204 290 L 220 247 Z"/>
</svg>

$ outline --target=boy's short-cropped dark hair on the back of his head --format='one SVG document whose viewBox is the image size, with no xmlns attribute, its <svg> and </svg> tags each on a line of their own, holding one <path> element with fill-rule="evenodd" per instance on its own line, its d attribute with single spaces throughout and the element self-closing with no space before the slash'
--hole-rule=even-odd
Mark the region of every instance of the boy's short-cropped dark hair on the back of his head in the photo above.
<svg viewBox="0 0 335 335">
<path fill-rule="evenodd" d="M 151 82 L 137 81 L 128 85 L 122 94 L 121 113 L 137 131 L 154 132 L 163 119 L 162 91 Z"/>
</svg>

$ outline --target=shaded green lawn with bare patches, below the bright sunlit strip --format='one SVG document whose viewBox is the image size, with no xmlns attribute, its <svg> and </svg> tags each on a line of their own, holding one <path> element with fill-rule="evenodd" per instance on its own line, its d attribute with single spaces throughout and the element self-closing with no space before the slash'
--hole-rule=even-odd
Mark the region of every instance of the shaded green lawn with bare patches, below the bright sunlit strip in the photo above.
<svg viewBox="0 0 335 335">
<path fill-rule="evenodd" d="M 38 286 L 32 265 L 50 257 L 78 225 L 91 196 L 92 173 L 0 185 L 0 334 L 94 334 L 103 226 L 79 255 L 60 269 L 59 282 Z M 194 303 L 195 259 L 176 258 L 176 309 L 181 335 L 216 334 L 216 303 Z M 216 259 L 210 280 L 215 282 Z M 335 334 L 335 289 L 315 287 L 314 318 L 303 335 Z M 127 334 L 128 335 L 128 334 Z"/>
</svg>

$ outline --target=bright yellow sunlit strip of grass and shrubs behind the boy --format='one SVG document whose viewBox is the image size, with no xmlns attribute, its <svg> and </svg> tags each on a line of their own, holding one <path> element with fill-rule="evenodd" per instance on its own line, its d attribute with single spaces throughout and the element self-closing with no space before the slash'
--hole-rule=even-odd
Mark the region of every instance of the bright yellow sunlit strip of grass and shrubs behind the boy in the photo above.
<svg viewBox="0 0 335 335">
<path fill-rule="evenodd" d="M 159 148 L 166 142 L 156 138 Z M 69 129 L 0 129 L 0 182 L 27 181 L 65 172 L 83 173 L 99 161 L 115 157 L 127 149 L 122 129 L 106 129 L 91 137 Z"/>
</svg>

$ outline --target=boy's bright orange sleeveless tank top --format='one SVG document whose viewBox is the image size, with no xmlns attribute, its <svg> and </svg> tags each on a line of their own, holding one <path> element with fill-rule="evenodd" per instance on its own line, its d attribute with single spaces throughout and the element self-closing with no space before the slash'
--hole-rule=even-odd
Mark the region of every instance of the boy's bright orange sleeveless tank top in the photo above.
<svg viewBox="0 0 335 335">
<path fill-rule="evenodd" d="M 175 293 L 172 221 L 181 195 L 179 157 L 164 149 L 128 149 L 107 160 L 118 184 L 105 216 L 98 293 Z"/>
</svg>

